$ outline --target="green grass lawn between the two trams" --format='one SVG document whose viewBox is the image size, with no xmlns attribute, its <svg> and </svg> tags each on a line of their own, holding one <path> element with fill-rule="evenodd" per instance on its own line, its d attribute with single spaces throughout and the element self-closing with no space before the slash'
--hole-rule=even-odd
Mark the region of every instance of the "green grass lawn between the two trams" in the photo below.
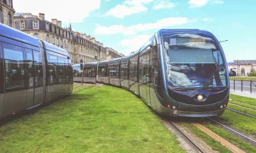
<svg viewBox="0 0 256 153">
<path fill-rule="evenodd" d="M 141 99 L 106 85 L 77 85 L 68 98 L 4 124 L 0 143 L 1 152 L 185 152 Z"/>
</svg>

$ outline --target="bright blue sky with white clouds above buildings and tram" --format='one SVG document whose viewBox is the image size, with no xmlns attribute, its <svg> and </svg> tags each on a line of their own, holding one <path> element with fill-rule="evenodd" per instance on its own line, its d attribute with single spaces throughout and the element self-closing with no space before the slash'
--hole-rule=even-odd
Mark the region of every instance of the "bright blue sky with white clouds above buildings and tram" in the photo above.
<svg viewBox="0 0 256 153">
<path fill-rule="evenodd" d="M 13 0 L 16 13 L 44 13 L 71 23 L 104 47 L 138 50 L 160 29 L 202 29 L 221 43 L 228 62 L 256 59 L 255 0 Z"/>
</svg>

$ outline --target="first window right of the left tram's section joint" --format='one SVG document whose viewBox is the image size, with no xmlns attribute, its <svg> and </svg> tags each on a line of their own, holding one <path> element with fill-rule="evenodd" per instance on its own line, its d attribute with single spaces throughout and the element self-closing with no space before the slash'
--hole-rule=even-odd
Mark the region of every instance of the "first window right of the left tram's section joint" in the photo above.
<svg viewBox="0 0 256 153">
<path fill-rule="evenodd" d="M 49 54 L 49 62 L 48 62 L 48 83 L 56 84 L 58 76 L 58 59 L 55 55 Z"/>
</svg>

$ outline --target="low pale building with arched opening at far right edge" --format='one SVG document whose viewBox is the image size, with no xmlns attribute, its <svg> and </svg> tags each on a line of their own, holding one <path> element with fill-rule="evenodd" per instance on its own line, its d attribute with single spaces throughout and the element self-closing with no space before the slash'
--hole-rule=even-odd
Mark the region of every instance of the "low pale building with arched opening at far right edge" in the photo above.
<svg viewBox="0 0 256 153">
<path fill-rule="evenodd" d="M 256 60 L 238 60 L 238 64 L 237 60 L 234 60 L 234 64 L 228 65 L 228 69 L 236 71 L 236 74 L 238 76 L 244 76 L 248 75 L 252 68 L 252 65 L 254 65 L 254 68 L 256 67 Z"/>
</svg>

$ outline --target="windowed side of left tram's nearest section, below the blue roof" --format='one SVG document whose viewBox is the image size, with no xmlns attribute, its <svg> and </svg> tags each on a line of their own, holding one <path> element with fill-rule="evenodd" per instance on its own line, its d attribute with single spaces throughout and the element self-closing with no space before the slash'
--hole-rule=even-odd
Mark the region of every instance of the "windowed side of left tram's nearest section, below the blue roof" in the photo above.
<svg viewBox="0 0 256 153">
<path fill-rule="evenodd" d="M 39 81 L 42 80 L 42 75 L 38 74 L 37 77 L 36 74 L 42 69 L 42 64 L 36 67 L 40 63 L 38 41 L 36 44 L 38 47 L 35 47 L 8 38 L 1 37 L 1 40 L 2 71 L 4 72 L 2 75 L 5 76 L 5 79 L 2 78 L 4 95 L 2 91 L 1 116 L 4 116 L 41 102 L 38 100 L 42 99 L 42 92 L 34 94 L 34 91 L 40 90 L 42 86 L 42 82 Z M 38 82 L 35 82 L 34 78 L 38 78 Z"/>
</svg>

